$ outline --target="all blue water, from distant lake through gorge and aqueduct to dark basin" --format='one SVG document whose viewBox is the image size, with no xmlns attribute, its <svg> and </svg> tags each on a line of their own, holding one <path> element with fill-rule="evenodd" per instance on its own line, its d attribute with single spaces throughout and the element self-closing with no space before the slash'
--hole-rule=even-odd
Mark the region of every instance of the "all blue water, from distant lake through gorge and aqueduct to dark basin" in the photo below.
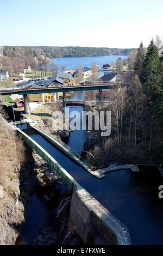
<svg viewBox="0 0 163 256">
<path fill-rule="evenodd" d="M 92 61 L 101 59 L 102 63 L 109 63 L 108 56 L 103 57 L 86 57 L 82 63 L 83 66 L 90 66 Z M 110 60 L 111 60 L 111 56 Z M 117 56 L 114 56 L 117 58 Z M 93 60 L 95 58 L 96 60 Z M 57 58 L 54 60 L 58 65 L 68 63 L 67 69 L 77 68 L 79 59 L 85 58 Z M 78 59 L 78 60 L 77 60 Z M 90 59 L 90 60 L 89 60 Z M 105 59 L 105 60 L 104 60 Z M 77 60 L 77 61 L 76 61 Z M 74 61 L 74 62 L 73 62 Z M 70 100 L 83 100 L 84 92 L 74 92 L 71 94 Z M 69 111 L 82 111 L 82 107 L 68 107 Z M 19 125 L 20 129 L 26 128 L 26 125 Z M 30 131 L 29 131 L 30 134 Z M 37 132 L 30 135 L 37 143 L 47 150 L 60 164 L 64 167 L 80 185 L 82 185 L 89 193 L 92 194 L 106 209 L 108 209 L 118 220 L 127 226 L 133 245 L 162 245 L 163 244 L 163 204 L 158 197 L 158 187 L 161 185 L 162 176 L 158 169 L 141 167 L 141 172 L 132 173 L 130 170 L 120 170 L 106 174 L 103 180 L 97 180 L 90 173 L 86 172 L 82 167 L 72 167 L 72 161 L 49 144 L 46 139 Z M 83 144 L 86 141 L 87 131 L 73 131 L 70 135 L 68 145 L 78 151 L 83 150 Z M 35 203 L 36 202 L 36 203 Z M 32 222 L 31 217 L 35 208 L 42 210 L 43 218 L 36 222 Z M 34 194 L 32 202 L 29 204 L 26 215 L 26 225 L 23 235 L 27 244 L 32 244 L 32 240 L 39 232 L 38 225 L 45 222 L 44 218 L 54 214 L 55 208 L 49 209 L 42 202 L 38 195 Z M 55 215 L 55 214 L 54 214 Z M 29 239 L 30 230 L 36 228 L 36 234 Z"/>
</svg>

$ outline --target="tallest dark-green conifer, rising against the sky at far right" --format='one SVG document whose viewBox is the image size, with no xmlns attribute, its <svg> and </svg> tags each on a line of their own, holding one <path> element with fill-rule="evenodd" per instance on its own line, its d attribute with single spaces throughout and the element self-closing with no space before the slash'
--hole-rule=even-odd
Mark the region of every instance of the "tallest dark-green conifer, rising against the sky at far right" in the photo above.
<svg viewBox="0 0 163 256">
<path fill-rule="evenodd" d="M 142 64 L 142 85 L 148 101 L 156 101 L 160 93 L 160 61 L 158 48 L 151 40 L 148 52 Z"/>
</svg>

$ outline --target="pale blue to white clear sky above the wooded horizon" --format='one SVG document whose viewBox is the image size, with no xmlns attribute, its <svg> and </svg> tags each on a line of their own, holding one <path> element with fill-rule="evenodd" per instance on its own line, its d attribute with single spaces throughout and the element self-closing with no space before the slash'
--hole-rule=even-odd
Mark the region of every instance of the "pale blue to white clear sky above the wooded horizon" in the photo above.
<svg viewBox="0 0 163 256">
<path fill-rule="evenodd" d="M 0 45 L 137 48 L 163 39 L 162 0 L 0 0 Z"/>
</svg>

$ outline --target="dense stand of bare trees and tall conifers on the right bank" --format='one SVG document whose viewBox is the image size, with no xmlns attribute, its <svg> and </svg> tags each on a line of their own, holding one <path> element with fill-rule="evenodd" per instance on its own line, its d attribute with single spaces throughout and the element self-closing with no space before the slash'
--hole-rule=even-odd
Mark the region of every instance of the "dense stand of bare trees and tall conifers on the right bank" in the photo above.
<svg viewBox="0 0 163 256">
<path fill-rule="evenodd" d="M 147 49 L 142 42 L 137 48 L 130 87 L 115 89 L 114 100 L 104 108 L 111 111 L 111 135 L 90 149 L 91 164 L 163 164 L 163 57 L 158 50 L 153 40 Z"/>
</svg>

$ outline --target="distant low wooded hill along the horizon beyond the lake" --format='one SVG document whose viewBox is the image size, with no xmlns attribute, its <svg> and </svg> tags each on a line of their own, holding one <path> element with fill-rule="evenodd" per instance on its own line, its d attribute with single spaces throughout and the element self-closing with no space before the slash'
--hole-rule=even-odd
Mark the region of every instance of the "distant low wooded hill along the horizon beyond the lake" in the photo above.
<svg viewBox="0 0 163 256">
<path fill-rule="evenodd" d="M 4 56 L 36 57 L 38 54 L 46 54 L 49 58 L 57 57 L 90 57 L 108 55 L 128 55 L 131 48 L 103 48 L 103 47 L 79 47 L 79 46 L 4 46 Z"/>
</svg>

